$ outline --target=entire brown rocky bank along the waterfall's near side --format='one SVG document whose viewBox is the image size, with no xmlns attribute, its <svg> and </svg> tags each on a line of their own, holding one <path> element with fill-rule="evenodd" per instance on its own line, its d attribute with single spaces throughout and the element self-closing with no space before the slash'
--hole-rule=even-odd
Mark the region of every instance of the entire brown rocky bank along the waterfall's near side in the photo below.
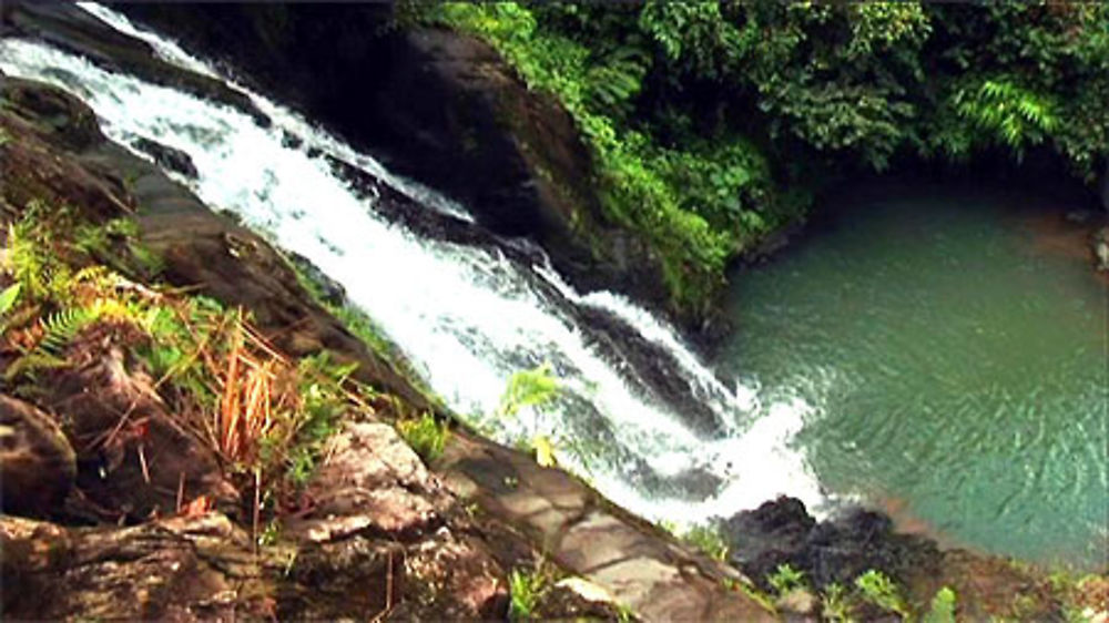
<svg viewBox="0 0 1109 623">
<path fill-rule="evenodd" d="M 74 34 L 69 18 L 28 7 L 4 6 L 6 37 L 98 44 L 100 31 Z M 99 28 L 90 23 L 78 25 Z M 114 43 L 130 64 L 103 62 L 151 74 L 170 67 L 135 43 Z M 1062 598 L 1042 572 L 939 551 L 896 534 L 878 513 L 817 523 L 796 500 L 767 502 L 722 522 L 725 564 L 457 422 L 441 457 L 423 460 L 394 422 L 411 412 L 450 415 L 318 305 L 279 252 L 109 142 L 75 98 L 0 80 L 7 224 L 34 202 L 68 205 L 98 223 L 133 219 L 161 264 L 156 278 L 130 275 L 136 287 L 186 288 L 242 307 L 281 357 L 333 353 L 357 364 L 359 381 L 393 397 L 343 415 L 304 486 L 311 503 L 281 515 L 277 535 L 260 545 L 231 466 L 180 429 L 157 379 L 124 356 L 135 338 L 110 324 L 85 327 L 35 382 L 44 391 L 14 395 L 22 386 L 7 380 L 0 394 L 6 619 L 505 620 L 513 572 L 531 570 L 549 575 L 530 611 L 537 619 L 816 621 L 827 617 L 818 591 L 873 569 L 898 581 L 914 612 L 950 586 L 960 620 L 1062 616 Z M 195 86 L 204 84 L 196 78 L 173 81 L 243 102 Z M 180 156 L 147 147 L 164 166 L 187 172 Z M 3 354 L 6 378 L 17 360 L 18 351 Z M 132 412 L 142 426 L 121 428 L 128 418 L 120 413 Z M 767 578 L 782 565 L 811 580 L 801 591 L 808 598 L 783 595 L 767 607 L 757 594 L 773 591 Z M 889 616 L 874 605 L 856 614 Z"/>
</svg>

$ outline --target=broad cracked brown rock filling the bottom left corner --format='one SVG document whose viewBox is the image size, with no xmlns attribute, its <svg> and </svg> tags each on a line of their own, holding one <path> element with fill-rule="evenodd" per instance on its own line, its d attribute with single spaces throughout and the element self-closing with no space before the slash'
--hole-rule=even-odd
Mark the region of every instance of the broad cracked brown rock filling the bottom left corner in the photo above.
<svg viewBox="0 0 1109 623">
<path fill-rule="evenodd" d="M 265 592 L 248 538 L 227 518 L 67 529 L 0 517 L 6 619 L 262 619 Z"/>
</svg>

